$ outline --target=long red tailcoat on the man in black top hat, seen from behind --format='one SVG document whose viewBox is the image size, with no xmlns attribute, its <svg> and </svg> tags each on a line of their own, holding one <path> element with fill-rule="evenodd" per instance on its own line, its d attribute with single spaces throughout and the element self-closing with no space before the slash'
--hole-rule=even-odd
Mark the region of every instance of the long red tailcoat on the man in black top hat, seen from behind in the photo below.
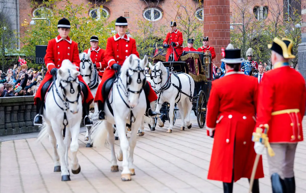
<svg viewBox="0 0 306 193">
<path fill-rule="evenodd" d="M 252 133 L 257 91 L 257 79 L 243 72 L 229 71 L 212 82 L 206 124 L 207 128 L 215 129 L 215 136 L 208 179 L 230 183 L 233 168 L 234 181 L 251 177 L 256 157 Z M 255 179 L 262 177 L 260 158 Z"/>
</svg>

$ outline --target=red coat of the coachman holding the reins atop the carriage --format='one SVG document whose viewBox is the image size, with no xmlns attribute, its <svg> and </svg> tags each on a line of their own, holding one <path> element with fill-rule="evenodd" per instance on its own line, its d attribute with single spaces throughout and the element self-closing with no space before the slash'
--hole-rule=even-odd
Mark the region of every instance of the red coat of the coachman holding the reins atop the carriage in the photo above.
<svg viewBox="0 0 306 193">
<path fill-rule="evenodd" d="M 166 39 L 162 43 L 162 45 L 164 45 L 164 44 L 170 45 L 170 47 L 167 49 L 166 61 L 169 60 L 169 56 L 172 53 L 171 42 L 175 42 L 175 44 L 176 44 L 174 49 L 176 50 L 178 56 L 175 53 L 175 51 L 174 51 L 173 54 L 174 54 L 174 60 L 178 61 L 179 57 L 182 55 L 182 52 L 183 52 L 183 34 L 182 34 L 182 32 L 180 32 L 176 29 L 174 32 L 171 32 L 171 34 L 170 34 L 170 32 L 167 33 Z"/>
</svg>

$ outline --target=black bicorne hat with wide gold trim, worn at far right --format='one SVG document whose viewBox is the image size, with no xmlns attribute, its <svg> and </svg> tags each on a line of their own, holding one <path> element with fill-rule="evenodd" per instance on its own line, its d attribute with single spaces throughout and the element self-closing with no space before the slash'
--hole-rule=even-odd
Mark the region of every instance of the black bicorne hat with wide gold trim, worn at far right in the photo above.
<svg viewBox="0 0 306 193">
<path fill-rule="evenodd" d="M 275 51 L 276 53 L 282 55 L 284 58 L 295 58 L 294 55 L 292 55 L 292 46 L 293 41 L 291 39 L 287 38 L 274 38 L 273 43 L 268 45 L 268 48 L 270 50 Z"/>
</svg>

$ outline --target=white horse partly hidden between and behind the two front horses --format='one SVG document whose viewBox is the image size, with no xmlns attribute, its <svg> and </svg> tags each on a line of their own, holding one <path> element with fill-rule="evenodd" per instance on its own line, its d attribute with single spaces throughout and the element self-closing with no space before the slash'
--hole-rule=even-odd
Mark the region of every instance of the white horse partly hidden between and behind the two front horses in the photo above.
<svg viewBox="0 0 306 193">
<path fill-rule="evenodd" d="M 95 97 L 95 94 L 98 90 L 98 84 L 101 82 L 100 77 L 98 76 L 97 69 L 95 69 L 93 62 L 90 58 L 90 49 L 88 50 L 88 53 L 81 53 L 79 54 L 80 57 L 80 73 L 83 77 L 84 82 L 88 85 L 90 88 L 91 94 L 93 97 Z M 92 117 L 92 113 L 98 110 L 98 107 L 95 105 L 95 102 L 92 102 L 90 105 L 90 113 Z M 91 126 L 86 127 L 86 135 L 85 135 L 85 141 L 88 141 L 89 138 L 89 131 L 91 129 Z M 86 147 L 92 147 L 90 143 L 87 143 Z"/>
</svg>

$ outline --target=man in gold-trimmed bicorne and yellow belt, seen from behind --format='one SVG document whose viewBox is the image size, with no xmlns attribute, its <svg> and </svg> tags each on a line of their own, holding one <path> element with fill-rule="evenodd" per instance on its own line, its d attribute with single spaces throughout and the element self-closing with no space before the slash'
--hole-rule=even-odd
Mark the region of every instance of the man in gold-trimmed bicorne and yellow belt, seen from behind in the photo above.
<svg viewBox="0 0 306 193">
<path fill-rule="evenodd" d="M 303 141 L 306 88 L 303 76 L 289 66 L 289 59 L 295 58 L 292 46 L 291 39 L 274 38 L 268 45 L 274 68 L 259 84 L 260 102 L 252 140 L 257 154 L 263 154 L 264 147 L 268 147 L 273 193 L 295 193 L 294 157 L 297 143 Z M 269 139 L 265 140 L 262 133 Z"/>
</svg>

